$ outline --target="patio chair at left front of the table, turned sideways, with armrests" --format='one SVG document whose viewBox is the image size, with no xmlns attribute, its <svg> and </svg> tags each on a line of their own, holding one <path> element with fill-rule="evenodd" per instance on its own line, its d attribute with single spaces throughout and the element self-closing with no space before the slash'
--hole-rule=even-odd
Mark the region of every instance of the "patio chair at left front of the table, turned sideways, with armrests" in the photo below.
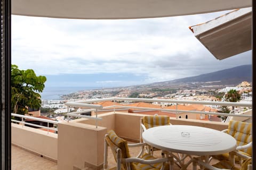
<svg viewBox="0 0 256 170">
<path fill-rule="evenodd" d="M 108 168 L 108 147 L 113 152 L 117 163 L 115 169 L 117 170 L 164 170 L 172 168 L 172 157 L 155 158 L 149 154 L 143 154 L 143 151 L 137 157 L 131 157 L 129 147 L 141 147 L 142 145 L 145 146 L 146 143 L 127 144 L 127 141 L 119 138 L 113 130 L 110 130 L 105 135 L 104 169 Z M 170 162 L 170 164 L 166 162 Z"/>
</svg>

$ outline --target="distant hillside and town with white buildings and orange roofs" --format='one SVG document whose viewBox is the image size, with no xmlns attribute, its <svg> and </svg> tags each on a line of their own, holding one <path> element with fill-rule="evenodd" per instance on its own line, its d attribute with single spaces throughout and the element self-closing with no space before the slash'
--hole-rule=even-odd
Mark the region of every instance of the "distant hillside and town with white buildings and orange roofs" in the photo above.
<svg viewBox="0 0 256 170">
<path fill-rule="evenodd" d="M 238 73 L 239 72 L 239 73 Z M 82 90 L 72 94 L 62 95 L 60 100 L 43 100 L 42 114 L 50 117 L 62 117 L 61 120 L 67 118 L 67 101 L 78 101 L 88 99 L 102 99 L 110 97 L 122 98 L 151 98 L 151 99 L 171 99 L 171 100 L 196 100 L 196 101 L 225 101 L 225 94 L 231 89 L 234 89 L 241 94 L 241 101 L 252 100 L 252 86 L 251 82 L 246 81 L 251 75 L 251 65 L 242 65 L 231 69 L 226 69 L 218 72 L 198 75 L 197 77 L 190 77 L 166 82 L 157 82 L 152 84 L 144 84 L 140 86 L 118 87 L 108 89 Z M 221 76 L 222 75 L 222 76 Z M 216 77 L 219 77 L 217 79 Z M 229 77 L 229 78 L 227 78 Z M 205 81 L 203 81 L 205 79 Z M 226 83 L 224 80 L 234 80 L 233 83 Z M 251 77 L 250 77 L 251 79 Z M 218 81 L 217 81 L 218 80 Z M 243 80 L 243 81 L 239 81 Z M 235 83 L 234 83 L 235 82 Z M 113 103 L 99 103 L 103 107 L 117 105 Z M 131 107 L 149 107 L 149 108 L 164 108 L 175 109 L 170 103 L 119 103 L 123 106 Z M 220 106 L 207 105 L 179 105 L 179 108 L 188 111 L 204 111 L 204 112 L 218 112 L 222 109 Z M 111 108 L 113 109 L 113 108 Z M 177 116 L 175 112 L 163 111 L 145 111 L 140 109 L 121 109 L 122 112 L 136 113 L 136 114 L 159 114 L 169 115 L 171 117 Z M 229 108 L 231 109 L 231 108 Z M 237 113 L 243 112 L 244 108 L 236 108 Z M 80 108 L 69 108 L 69 112 L 80 111 Z M 105 113 L 106 111 L 100 111 Z M 109 112 L 109 110 L 107 110 Z M 91 113 L 86 113 L 91 115 Z M 199 120 L 214 120 L 221 121 L 216 116 L 205 117 L 202 115 L 187 115 L 179 114 L 180 118 L 192 118 Z"/>
</svg>

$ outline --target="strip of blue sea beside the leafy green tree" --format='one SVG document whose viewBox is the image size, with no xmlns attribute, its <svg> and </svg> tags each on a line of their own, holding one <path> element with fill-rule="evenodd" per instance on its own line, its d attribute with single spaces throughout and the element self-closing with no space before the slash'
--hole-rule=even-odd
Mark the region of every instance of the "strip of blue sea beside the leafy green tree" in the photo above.
<svg viewBox="0 0 256 170">
<path fill-rule="evenodd" d="M 58 100 L 60 95 L 67 95 L 82 90 L 100 89 L 100 87 L 45 87 L 41 93 L 42 100 Z"/>
</svg>

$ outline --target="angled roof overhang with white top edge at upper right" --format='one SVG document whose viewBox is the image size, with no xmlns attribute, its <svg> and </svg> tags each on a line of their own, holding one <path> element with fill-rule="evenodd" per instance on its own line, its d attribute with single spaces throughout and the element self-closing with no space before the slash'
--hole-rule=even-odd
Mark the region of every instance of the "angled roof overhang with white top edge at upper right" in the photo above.
<svg viewBox="0 0 256 170">
<path fill-rule="evenodd" d="M 190 30 L 219 60 L 246 52 L 252 49 L 252 8 L 232 11 Z"/>
</svg>

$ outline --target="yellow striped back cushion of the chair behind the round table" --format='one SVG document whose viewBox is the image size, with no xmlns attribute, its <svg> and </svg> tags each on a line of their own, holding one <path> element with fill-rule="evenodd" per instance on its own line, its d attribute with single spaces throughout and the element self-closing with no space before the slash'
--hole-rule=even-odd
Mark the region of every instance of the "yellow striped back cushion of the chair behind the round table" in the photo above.
<svg viewBox="0 0 256 170">
<path fill-rule="evenodd" d="M 169 116 L 144 116 L 143 124 L 146 129 L 153 128 L 155 126 L 170 125 Z"/>
</svg>

